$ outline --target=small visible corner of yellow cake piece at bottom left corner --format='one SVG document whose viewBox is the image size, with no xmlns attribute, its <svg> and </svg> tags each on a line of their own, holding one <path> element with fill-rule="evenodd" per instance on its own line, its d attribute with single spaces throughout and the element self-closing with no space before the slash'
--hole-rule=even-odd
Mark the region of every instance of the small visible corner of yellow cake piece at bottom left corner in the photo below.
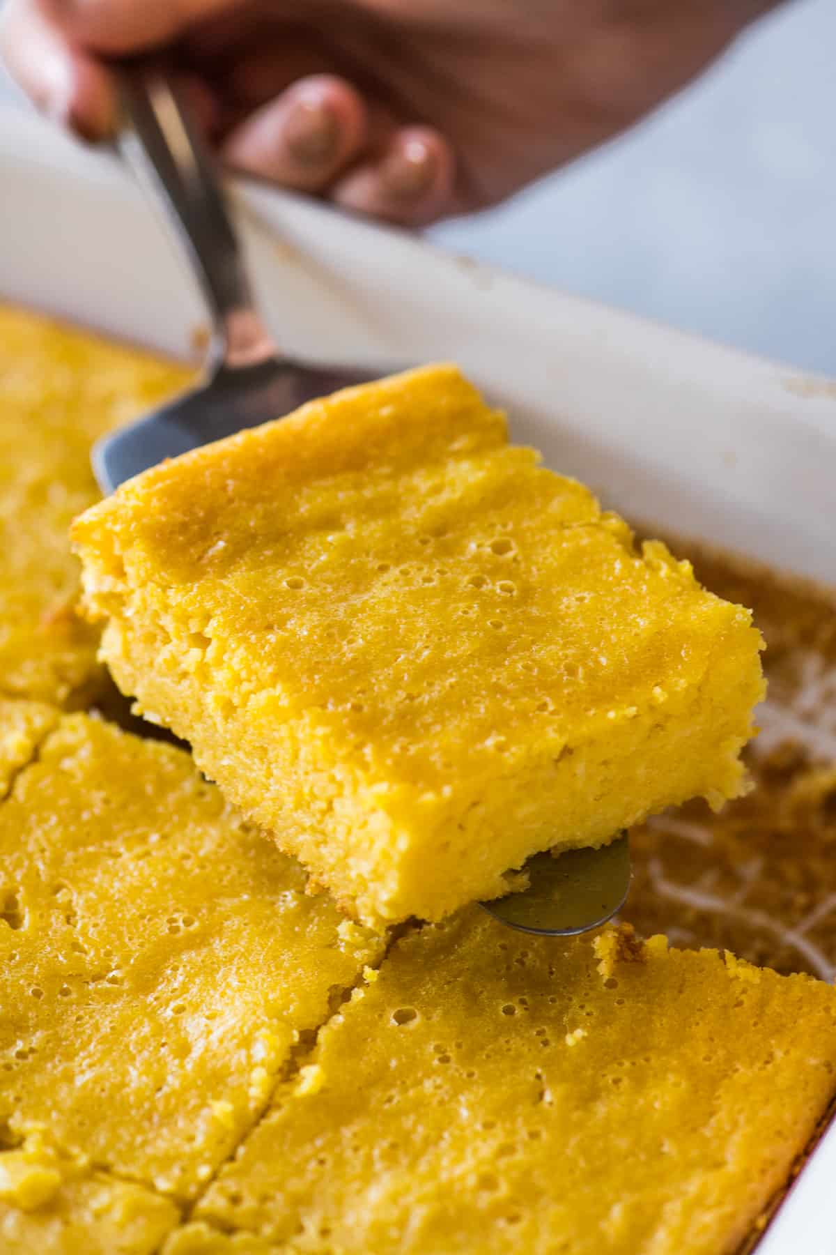
<svg viewBox="0 0 836 1255">
<path fill-rule="evenodd" d="M 154 1255 L 179 1209 L 38 1143 L 0 1151 L 4 1255 Z"/>
</svg>

